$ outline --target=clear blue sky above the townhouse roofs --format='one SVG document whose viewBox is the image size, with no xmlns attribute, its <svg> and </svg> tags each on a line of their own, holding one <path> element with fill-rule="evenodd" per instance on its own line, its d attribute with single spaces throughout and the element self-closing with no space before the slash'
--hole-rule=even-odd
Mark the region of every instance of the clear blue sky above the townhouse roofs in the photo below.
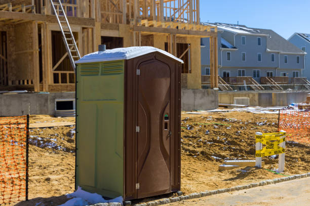
<svg viewBox="0 0 310 206">
<path fill-rule="evenodd" d="M 200 0 L 202 22 L 222 22 L 272 29 L 284 38 L 310 33 L 309 0 Z"/>
</svg>

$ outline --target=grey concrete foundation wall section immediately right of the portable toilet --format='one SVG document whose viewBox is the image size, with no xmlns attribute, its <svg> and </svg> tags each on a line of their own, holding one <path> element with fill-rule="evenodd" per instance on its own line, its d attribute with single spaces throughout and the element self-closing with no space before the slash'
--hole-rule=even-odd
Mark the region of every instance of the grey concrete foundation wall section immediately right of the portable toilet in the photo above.
<svg viewBox="0 0 310 206">
<path fill-rule="evenodd" d="M 218 90 L 182 89 L 182 111 L 213 110 L 218 108 Z"/>
</svg>

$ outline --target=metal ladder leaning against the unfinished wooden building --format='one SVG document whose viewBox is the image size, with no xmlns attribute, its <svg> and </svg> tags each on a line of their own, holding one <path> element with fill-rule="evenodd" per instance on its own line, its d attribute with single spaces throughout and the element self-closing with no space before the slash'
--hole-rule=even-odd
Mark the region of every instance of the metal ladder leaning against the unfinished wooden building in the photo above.
<svg viewBox="0 0 310 206">
<path fill-rule="evenodd" d="M 74 36 L 72 34 L 66 13 L 63 10 L 61 0 L 57 0 L 58 3 L 53 2 L 53 0 L 50 0 L 50 1 L 52 4 L 54 13 L 56 15 L 61 33 L 62 33 L 62 39 L 63 39 L 63 42 L 66 46 L 68 57 L 70 59 L 72 68 L 75 72 L 75 63 L 74 63 L 75 60 L 74 59 L 78 60 L 81 58 L 78 46 L 76 46 L 76 42 L 75 42 Z M 59 6 L 60 9 L 56 10 L 55 5 Z M 63 15 L 58 15 L 57 11 L 60 11 Z M 60 19 L 60 18 L 62 18 L 62 19 Z M 69 30 L 69 31 L 64 31 L 64 30 Z"/>
</svg>

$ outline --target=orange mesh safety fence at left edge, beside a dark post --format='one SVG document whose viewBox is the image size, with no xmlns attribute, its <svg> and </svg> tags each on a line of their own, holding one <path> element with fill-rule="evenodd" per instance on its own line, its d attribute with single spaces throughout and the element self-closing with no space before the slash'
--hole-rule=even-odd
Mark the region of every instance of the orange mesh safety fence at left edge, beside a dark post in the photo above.
<svg viewBox="0 0 310 206">
<path fill-rule="evenodd" d="M 28 199 L 29 116 L 0 117 L 0 205 Z"/>
</svg>

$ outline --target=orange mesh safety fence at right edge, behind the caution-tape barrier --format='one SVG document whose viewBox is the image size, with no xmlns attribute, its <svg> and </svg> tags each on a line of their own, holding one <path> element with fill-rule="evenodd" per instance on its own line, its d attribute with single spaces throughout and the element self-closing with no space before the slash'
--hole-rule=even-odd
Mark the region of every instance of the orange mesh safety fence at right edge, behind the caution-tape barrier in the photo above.
<svg viewBox="0 0 310 206">
<path fill-rule="evenodd" d="M 310 111 L 283 109 L 279 112 L 278 131 L 287 133 L 287 141 L 310 143 Z"/>
</svg>

